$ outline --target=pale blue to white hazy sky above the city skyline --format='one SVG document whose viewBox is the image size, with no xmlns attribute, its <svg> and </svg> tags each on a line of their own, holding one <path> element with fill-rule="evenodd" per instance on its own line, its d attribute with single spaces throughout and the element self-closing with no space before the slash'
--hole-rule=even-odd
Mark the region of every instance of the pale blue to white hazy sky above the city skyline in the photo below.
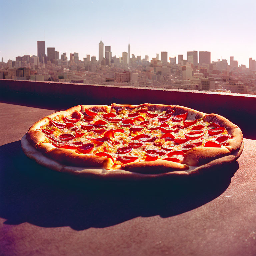
<svg viewBox="0 0 256 256">
<path fill-rule="evenodd" d="M 211 61 L 234 56 L 249 66 L 256 58 L 256 1 L 169 0 L 114 1 L 2 0 L 0 57 L 7 62 L 24 54 L 37 55 L 37 41 L 60 54 L 96 55 L 98 43 L 111 46 L 112 56 L 167 51 L 211 51 Z"/>
</svg>

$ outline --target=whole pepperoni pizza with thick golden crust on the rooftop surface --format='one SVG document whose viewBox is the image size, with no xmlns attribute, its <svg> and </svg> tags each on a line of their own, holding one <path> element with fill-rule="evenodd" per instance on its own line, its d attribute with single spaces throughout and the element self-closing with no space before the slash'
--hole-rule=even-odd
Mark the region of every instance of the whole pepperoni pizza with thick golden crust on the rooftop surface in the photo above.
<svg viewBox="0 0 256 256">
<path fill-rule="evenodd" d="M 83 176 L 189 175 L 235 161 L 239 127 L 217 114 L 160 104 L 78 105 L 44 117 L 21 141 L 25 154 Z"/>
</svg>

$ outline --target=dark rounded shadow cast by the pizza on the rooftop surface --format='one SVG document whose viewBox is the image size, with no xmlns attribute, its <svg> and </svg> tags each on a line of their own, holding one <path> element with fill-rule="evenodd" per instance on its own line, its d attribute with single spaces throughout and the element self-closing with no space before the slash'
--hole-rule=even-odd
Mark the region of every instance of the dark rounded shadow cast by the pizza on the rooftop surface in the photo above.
<svg viewBox="0 0 256 256">
<path fill-rule="evenodd" d="M 238 162 L 189 179 L 99 181 L 79 179 L 38 165 L 20 141 L 0 147 L 0 217 L 74 230 L 104 228 L 143 216 L 178 215 L 217 198 L 229 186 Z"/>
</svg>

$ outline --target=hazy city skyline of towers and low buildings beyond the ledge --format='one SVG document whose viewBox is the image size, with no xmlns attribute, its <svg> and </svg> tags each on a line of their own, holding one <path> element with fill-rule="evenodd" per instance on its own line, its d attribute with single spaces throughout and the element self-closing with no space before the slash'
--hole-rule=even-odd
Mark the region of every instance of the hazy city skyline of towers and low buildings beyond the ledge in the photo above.
<svg viewBox="0 0 256 256">
<path fill-rule="evenodd" d="M 113 86 L 154 87 L 256 94 L 256 61 L 249 67 L 230 60 L 211 61 L 211 52 L 187 51 L 187 56 L 169 57 L 161 51 L 149 60 L 146 55 L 131 54 L 131 45 L 121 57 L 112 56 L 111 46 L 99 42 L 99 57 L 87 54 L 79 59 L 77 52 L 59 53 L 55 47 L 45 49 L 37 41 L 37 55 L 17 56 L 0 62 L 0 79 L 56 81 Z M 47 53 L 47 54 L 46 54 Z"/>
</svg>

